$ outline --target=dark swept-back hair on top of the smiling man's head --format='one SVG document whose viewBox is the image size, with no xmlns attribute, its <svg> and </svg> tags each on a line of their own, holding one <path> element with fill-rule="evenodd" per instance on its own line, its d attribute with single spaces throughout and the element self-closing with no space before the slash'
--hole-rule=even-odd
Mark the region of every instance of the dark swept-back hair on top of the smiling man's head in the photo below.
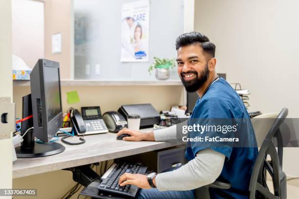
<svg viewBox="0 0 299 199">
<path fill-rule="evenodd" d="M 215 57 L 215 44 L 212 43 L 207 36 L 199 32 L 190 32 L 180 35 L 175 41 L 175 48 L 178 50 L 180 47 L 194 43 L 199 43 L 204 53 L 209 54 L 212 58 Z"/>
</svg>

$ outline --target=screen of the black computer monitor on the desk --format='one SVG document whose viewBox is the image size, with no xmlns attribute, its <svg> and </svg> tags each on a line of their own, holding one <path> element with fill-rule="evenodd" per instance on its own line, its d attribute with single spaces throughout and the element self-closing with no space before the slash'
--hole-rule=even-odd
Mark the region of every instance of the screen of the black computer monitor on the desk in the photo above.
<svg viewBox="0 0 299 199">
<path fill-rule="evenodd" d="M 48 122 L 62 112 L 59 87 L 59 69 L 44 67 L 44 89 Z"/>
</svg>

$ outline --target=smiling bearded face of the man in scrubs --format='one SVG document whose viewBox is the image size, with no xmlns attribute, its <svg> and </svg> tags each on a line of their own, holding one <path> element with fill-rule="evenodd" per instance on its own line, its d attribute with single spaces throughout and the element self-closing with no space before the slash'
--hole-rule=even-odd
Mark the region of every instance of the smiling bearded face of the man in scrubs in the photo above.
<svg viewBox="0 0 299 199">
<path fill-rule="evenodd" d="M 180 47 L 176 61 L 177 72 L 187 92 L 197 91 L 208 79 L 208 60 L 199 44 Z"/>
</svg>

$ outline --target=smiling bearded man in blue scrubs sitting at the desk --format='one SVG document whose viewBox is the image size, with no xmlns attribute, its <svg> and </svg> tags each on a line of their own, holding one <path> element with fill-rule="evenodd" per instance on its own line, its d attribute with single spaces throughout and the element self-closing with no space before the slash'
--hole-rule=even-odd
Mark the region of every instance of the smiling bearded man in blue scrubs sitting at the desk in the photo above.
<svg viewBox="0 0 299 199">
<path fill-rule="evenodd" d="M 196 92 L 199 96 L 188 124 L 192 126 L 196 119 L 245 119 L 242 138 L 245 138 L 247 145 L 233 147 L 229 144 L 209 145 L 189 141 L 185 154 L 189 162 L 184 166 L 149 176 L 124 174 L 119 183 L 121 186 L 133 184 L 143 188 L 137 197 L 140 199 L 193 199 L 194 189 L 219 179 L 230 182 L 231 188 L 211 188 L 211 198 L 246 199 L 258 153 L 257 148 L 253 147 L 256 146 L 256 138 L 248 112 L 235 90 L 226 80 L 218 78 L 215 71 L 215 45 L 205 35 L 191 32 L 179 36 L 176 50 L 178 75 L 186 90 Z M 127 141 L 164 141 L 175 140 L 177 129 L 172 126 L 149 133 L 123 129 L 117 136 L 121 134 L 130 135 L 124 138 Z M 188 138 L 195 138 L 197 135 L 198 133 L 189 132 Z"/>
</svg>

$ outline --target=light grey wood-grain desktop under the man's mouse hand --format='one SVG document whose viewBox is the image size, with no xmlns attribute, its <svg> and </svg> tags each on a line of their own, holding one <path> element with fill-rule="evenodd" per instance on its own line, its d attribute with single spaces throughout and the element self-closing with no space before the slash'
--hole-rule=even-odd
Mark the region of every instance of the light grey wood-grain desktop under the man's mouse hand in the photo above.
<svg viewBox="0 0 299 199">
<path fill-rule="evenodd" d="M 150 131 L 143 129 L 143 131 Z M 65 151 L 41 158 L 22 158 L 13 162 L 13 178 L 117 159 L 135 154 L 180 145 L 179 142 L 123 141 L 115 133 L 85 136 L 82 145 L 66 145 Z"/>
</svg>

